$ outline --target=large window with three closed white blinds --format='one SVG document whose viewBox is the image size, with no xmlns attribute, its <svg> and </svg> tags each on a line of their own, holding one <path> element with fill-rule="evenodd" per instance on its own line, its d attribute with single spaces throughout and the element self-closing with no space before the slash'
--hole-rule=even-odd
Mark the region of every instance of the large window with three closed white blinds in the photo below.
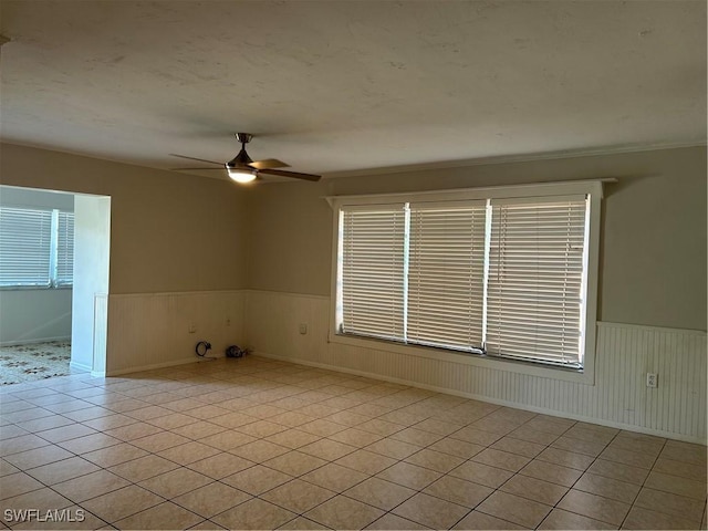
<svg viewBox="0 0 708 531">
<path fill-rule="evenodd" d="M 331 198 L 335 333 L 582 369 L 594 345 L 601 191 Z"/>
</svg>

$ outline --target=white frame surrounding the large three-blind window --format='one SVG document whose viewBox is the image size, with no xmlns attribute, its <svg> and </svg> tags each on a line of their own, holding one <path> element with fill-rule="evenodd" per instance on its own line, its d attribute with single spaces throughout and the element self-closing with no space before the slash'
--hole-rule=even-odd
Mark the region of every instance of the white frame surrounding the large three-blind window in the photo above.
<svg viewBox="0 0 708 531">
<path fill-rule="evenodd" d="M 329 196 L 325 199 L 333 209 L 332 233 L 332 272 L 330 296 L 329 341 L 334 344 L 358 346 L 364 348 L 405 353 L 408 355 L 434 360 L 477 365 L 499 371 L 508 371 L 552 379 L 594 384 L 595 344 L 597 327 L 597 285 L 600 275 L 600 230 L 601 207 L 603 198 L 603 183 L 614 179 L 592 179 L 574 181 L 556 181 L 541 184 L 524 184 L 510 186 L 491 186 L 479 188 L 460 188 L 417 192 L 394 192 L 376 195 Z M 475 201 L 486 199 L 529 199 L 533 197 L 552 199 L 556 196 L 590 196 L 590 216 L 587 221 L 587 271 L 586 271 L 586 303 L 585 303 L 585 348 L 583 367 L 581 369 L 566 368 L 535 363 L 532 361 L 517 361 L 511 358 L 491 357 L 462 351 L 440 347 L 428 347 L 394 343 L 371 337 L 341 334 L 336 330 L 337 312 L 337 268 L 340 267 L 340 209 L 342 207 L 366 207 L 399 202 L 448 202 Z"/>
</svg>

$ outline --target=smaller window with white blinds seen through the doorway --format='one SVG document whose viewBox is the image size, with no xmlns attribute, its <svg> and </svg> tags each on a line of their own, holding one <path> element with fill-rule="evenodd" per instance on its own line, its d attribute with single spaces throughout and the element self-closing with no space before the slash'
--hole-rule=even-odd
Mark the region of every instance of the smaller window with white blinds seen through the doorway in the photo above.
<svg viewBox="0 0 708 531">
<path fill-rule="evenodd" d="M 73 212 L 0 207 L 0 288 L 71 285 L 73 269 Z"/>
</svg>

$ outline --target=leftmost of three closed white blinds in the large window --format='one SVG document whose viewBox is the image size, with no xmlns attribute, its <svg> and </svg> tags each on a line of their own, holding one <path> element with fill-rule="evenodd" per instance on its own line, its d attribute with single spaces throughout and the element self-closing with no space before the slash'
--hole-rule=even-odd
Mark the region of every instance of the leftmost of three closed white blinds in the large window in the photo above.
<svg viewBox="0 0 708 531">
<path fill-rule="evenodd" d="M 341 332 L 403 341 L 405 205 L 341 212 Z"/>
</svg>

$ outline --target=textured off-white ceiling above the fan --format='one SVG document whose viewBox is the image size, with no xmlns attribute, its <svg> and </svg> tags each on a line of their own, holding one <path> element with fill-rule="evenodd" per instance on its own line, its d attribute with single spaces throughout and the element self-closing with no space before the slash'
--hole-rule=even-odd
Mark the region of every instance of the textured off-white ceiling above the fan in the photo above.
<svg viewBox="0 0 708 531">
<path fill-rule="evenodd" d="M 702 0 L 0 10 L 8 143 L 174 168 L 248 132 L 254 159 L 326 175 L 706 142 Z"/>
</svg>

